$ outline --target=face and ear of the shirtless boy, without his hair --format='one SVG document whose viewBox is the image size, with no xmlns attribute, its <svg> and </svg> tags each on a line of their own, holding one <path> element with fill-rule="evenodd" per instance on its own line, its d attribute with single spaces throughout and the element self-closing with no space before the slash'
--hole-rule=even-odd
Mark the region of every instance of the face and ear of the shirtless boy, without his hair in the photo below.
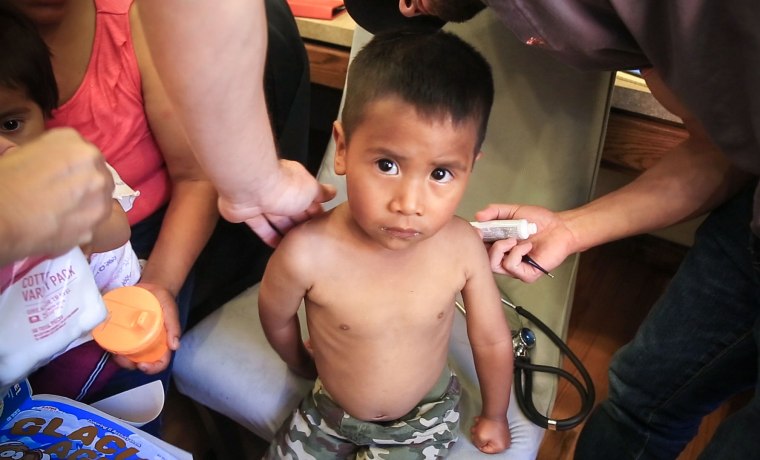
<svg viewBox="0 0 760 460">
<path fill-rule="evenodd" d="M 437 233 L 454 215 L 475 162 L 476 124 L 420 117 L 399 98 L 367 107 L 346 144 L 335 124 L 335 172 L 371 239 L 403 249 Z"/>
</svg>

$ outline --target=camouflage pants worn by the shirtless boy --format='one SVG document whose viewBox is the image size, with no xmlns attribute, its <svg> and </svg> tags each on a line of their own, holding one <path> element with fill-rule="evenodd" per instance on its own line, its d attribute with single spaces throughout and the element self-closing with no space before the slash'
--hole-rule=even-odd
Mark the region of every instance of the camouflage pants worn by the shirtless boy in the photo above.
<svg viewBox="0 0 760 460">
<path fill-rule="evenodd" d="M 317 380 L 272 441 L 265 459 L 428 460 L 446 457 L 456 442 L 461 389 L 448 381 L 435 385 L 432 397 L 391 422 L 366 422 L 346 414 Z M 440 382 L 439 382 L 440 383 Z"/>
</svg>

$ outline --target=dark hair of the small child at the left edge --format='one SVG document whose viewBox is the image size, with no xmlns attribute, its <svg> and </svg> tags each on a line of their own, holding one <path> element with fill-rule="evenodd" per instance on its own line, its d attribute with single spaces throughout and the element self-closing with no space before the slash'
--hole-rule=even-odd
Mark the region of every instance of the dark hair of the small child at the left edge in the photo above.
<svg viewBox="0 0 760 460">
<path fill-rule="evenodd" d="M 0 85 L 23 91 L 50 117 L 58 106 L 50 50 L 34 24 L 5 1 L 0 1 L 0 43 Z"/>
</svg>

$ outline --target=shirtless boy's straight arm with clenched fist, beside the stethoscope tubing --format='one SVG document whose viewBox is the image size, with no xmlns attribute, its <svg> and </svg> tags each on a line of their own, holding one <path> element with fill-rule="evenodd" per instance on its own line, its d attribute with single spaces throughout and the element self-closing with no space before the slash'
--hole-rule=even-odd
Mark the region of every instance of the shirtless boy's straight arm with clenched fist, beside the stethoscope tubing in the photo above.
<svg viewBox="0 0 760 460">
<path fill-rule="evenodd" d="M 462 290 L 467 309 L 467 335 L 472 346 L 483 408 L 472 428 L 472 442 L 489 454 L 511 444 L 507 408 L 512 389 L 512 334 L 504 316 L 499 289 L 480 239 L 471 248 L 473 268 Z"/>
</svg>

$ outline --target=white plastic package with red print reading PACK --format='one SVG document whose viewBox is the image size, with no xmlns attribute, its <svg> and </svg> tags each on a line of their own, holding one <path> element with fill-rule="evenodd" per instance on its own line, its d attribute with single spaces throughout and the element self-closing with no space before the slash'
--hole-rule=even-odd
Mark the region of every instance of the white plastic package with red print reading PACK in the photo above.
<svg viewBox="0 0 760 460">
<path fill-rule="evenodd" d="M 0 393 L 86 337 L 106 307 L 79 248 L 0 268 Z"/>
</svg>

